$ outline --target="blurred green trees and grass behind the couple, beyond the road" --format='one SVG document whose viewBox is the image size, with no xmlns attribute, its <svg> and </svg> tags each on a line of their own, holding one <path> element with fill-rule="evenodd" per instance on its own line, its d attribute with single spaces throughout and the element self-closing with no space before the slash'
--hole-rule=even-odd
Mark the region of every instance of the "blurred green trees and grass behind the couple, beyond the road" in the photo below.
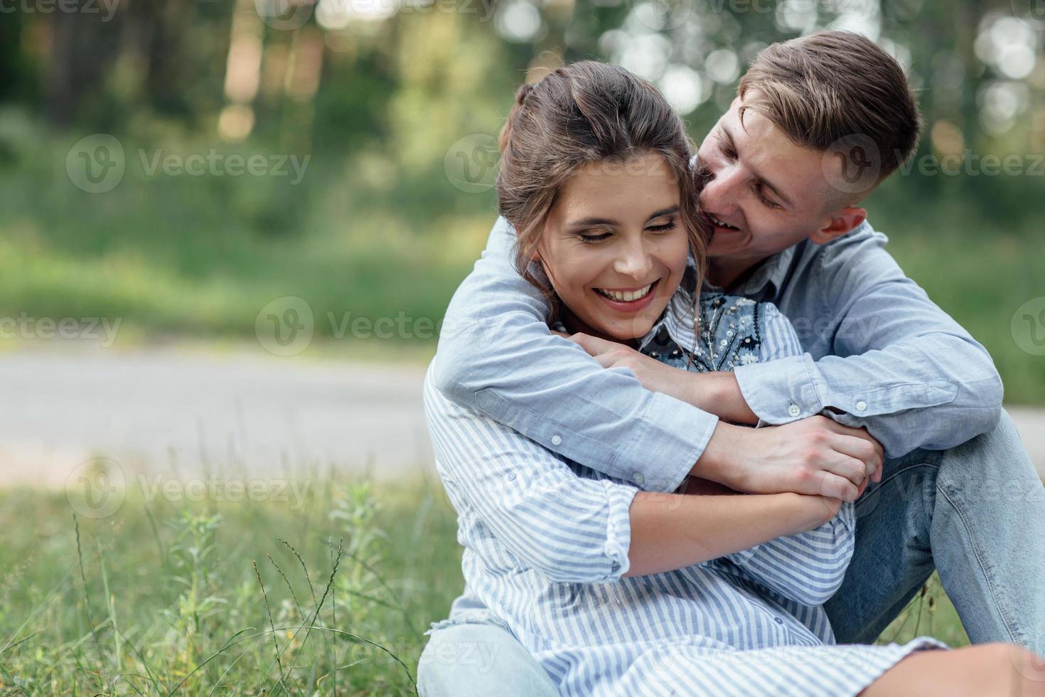
<svg viewBox="0 0 1045 697">
<path fill-rule="evenodd" d="M 286 295 L 311 304 L 327 338 L 328 311 L 438 319 L 495 216 L 493 143 L 519 83 L 563 62 L 619 63 L 660 87 L 699 142 L 762 47 L 837 27 L 893 54 L 926 115 L 914 165 L 868 202 L 873 224 L 991 350 L 1008 400 L 1045 403 L 1042 358 L 1011 330 L 1017 307 L 1045 295 L 1045 14 L 1036 9 L 1032 0 L 6 3 L 0 312 L 120 317 L 123 338 L 146 340 L 249 339 L 258 310 Z M 103 193 L 82 190 L 67 169 L 70 148 L 93 134 L 123 149 L 122 180 Z M 149 166 L 158 154 L 209 153 L 308 160 L 297 183 L 293 169 Z M 990 173 L 989 155 L 1018 165 Z M 920 166 L 927 158 L 944 159 L 944 171 Z"/>
</svg>

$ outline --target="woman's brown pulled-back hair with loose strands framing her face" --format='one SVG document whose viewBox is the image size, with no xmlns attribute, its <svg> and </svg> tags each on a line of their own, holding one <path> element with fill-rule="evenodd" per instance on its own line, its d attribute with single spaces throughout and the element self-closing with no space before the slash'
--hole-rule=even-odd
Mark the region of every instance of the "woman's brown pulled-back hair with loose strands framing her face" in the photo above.
<svg viewBox="0 0 1045 697">
<path fill-rule="evenodd" d="M 554 300 L 530 271 L 544 220 L 563 184 L 590 162 L 627 162 L 660 155 L 678 182 L 680 224 L 703 278 L 706 224 L 697 213 L 692 150 L 682 120 L 646 80 L 619 66 L 581 61 L 515 93 L 501 132 L 497 204 L 515 228 L 515 268 Z M 555 310 L 553 303 L 553 312 Z"/>
</svg>

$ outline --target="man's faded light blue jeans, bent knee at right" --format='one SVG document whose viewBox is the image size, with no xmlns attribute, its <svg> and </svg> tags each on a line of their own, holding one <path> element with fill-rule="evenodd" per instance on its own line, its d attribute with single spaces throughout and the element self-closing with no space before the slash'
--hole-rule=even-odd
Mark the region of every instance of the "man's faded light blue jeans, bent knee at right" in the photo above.
<svg viewBox="0 0 1045 697">
<path fill-rule="evenodd" d="M 994 431 L 950 450 L 886 460 L 856 515 L 853 560 L 825 606 L 839 644 L 874 643 L 935 568 L 974 644 L 1006 642 L 1045 656 L 1045 487 L 1004 411 Z M 494 658 L 463 665 L 436 655 L 460 655 L 468 644 Z M 433 632 L 418 688 L 422 697 L 557 694 L 496 624 Z"/>
</svg>

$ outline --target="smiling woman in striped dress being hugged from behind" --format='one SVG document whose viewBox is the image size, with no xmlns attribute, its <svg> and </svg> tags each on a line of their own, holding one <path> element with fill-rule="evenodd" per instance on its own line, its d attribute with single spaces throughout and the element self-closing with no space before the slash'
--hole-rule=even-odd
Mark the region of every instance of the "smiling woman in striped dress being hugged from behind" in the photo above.
<svg viewBox="0 0 1045 697">
<path fill-rule="evenodd" d="M 800 353 L 772 305 L 698 294 L 690 144 L 651 86 L 598 63 L 559 69 L 518 91 L 501 145 L 501 213 L 535 299 L 553 301 L 554 328 L 680 370 Z M 1020 671 L 1031 656 L 1005 645 L 834 645 L 820 606 L 853 551 L 852 504 L 644 491 L 449 402 L 433 387 L 438 362 L 425 406 L 467 583 L 448 623 L 507 630 L 561 694 L 1045 691 Z M 488 414 L 497 399 L 477 396 Z M 594 421 L 602 409 L 590 405 Z M 426 683 L 424 666 L 425 694 L 474 687 Z"/>
</svg>

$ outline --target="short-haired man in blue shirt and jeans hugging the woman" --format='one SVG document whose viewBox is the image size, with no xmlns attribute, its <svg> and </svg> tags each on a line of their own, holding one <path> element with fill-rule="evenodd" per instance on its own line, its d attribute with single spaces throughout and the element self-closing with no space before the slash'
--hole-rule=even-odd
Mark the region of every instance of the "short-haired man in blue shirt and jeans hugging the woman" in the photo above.
<svg viewBox="0 0 1045 697">
<path fill-rule="evenodd" d="M 764 50 L 700 146 L 714 226 L 706 280 L 775 303 L 805 355 L 682 375 L 611 342 L 554 335 L 498 220 L 447 310 L 440 391 L 651 491 L 695 475 L 852 501 L 864 478 L 852 460 L 864 460 L 878 471 L 827 605 L 838 643 L 874 642 L 936 568 L 974 643 L 1045 655 L 1045 489 L 1001 409 L 997 371 L 903 275 L 859 207 L 911 155 L 920 127 L 900 66 L 865 38 L 825 31 Z M 759 422 L 773 425 L 736 425 Z M 855 456 L 840 436 L 874 451 Z M 437 630 L 422 656 L 427 694 L 549 690 L 467 591 L 451 618 L 466 612 L 474 623 Z M 485 670 L 440 658 L 465 644 L 486 649 Z"/>
</svg>

